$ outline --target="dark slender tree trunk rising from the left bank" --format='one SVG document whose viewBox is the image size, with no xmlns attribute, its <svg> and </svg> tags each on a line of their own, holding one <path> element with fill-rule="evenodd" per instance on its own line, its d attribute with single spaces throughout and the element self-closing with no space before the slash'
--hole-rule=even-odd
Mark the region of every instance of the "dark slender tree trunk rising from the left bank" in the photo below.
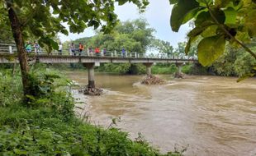
<svg viewBox="0 0 256 156">
<path fill-rule="evenodd" d="M 21 23 L 16 15 L 16 12 L 12 8 L 12 3 L 6 1 L 8 8 L 8 16 L 12 26 L 12 34 L 17 46 L 17 55 L 19 58 L 20 66 L 21 66 L 21 78 L 23 85 L 23 94 L 30 94 L 30 85 L 29 85 L 29 67 L 27 63 L 26 49 L 24 48 L 24 41 L 21 30 Z"/>
</svg>

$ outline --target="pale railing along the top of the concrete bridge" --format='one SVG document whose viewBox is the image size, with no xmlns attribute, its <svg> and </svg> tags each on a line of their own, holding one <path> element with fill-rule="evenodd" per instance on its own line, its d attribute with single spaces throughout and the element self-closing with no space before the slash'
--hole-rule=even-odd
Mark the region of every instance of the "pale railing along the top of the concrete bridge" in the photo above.
<svg viewBox="0 0 256 156">
<path fill-rule="evenodd" d="M 0 44 L 0 54 L 1 53 L 17 53 L 17 48 L 15 44 Z M 37 55 L 48 54 L 43 48 L 34 48 L 31 53 L 36 53 Z M 197 60 L 197 57 L 188 56 L 177 56 L 177 55 L 167 55 L 163 53 L 157 54 L 146 54 L 146 53 L 136 53 L 136 52 L 117 52 L 117 51 L 105 51 L 102 50 L 100 53 L 95 53 L 93 50 L 85 49 L 81 53 L 78 49 L 73 52 L 70 49 L 63 49 L 60 53 L 57 50 L 52 51 L 49 55 L 63 55 L 63 56 L 86 56 L 86 57 L 134 57 L 134 58 L 162 58 L 162 59 L 191 59 Z"/>
</svg>

